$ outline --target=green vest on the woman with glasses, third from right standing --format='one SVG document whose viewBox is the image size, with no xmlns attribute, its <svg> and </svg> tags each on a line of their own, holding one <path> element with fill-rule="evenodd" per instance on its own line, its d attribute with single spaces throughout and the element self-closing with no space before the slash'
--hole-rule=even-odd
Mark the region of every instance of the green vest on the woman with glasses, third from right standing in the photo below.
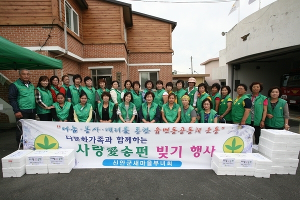
<svg viewBox="0 0 300 200">
<path fill-rule="evenodd" d="M 233 122 L 240 122 L 242 119 L 242 116 L 245 112 L 245 109 L 242 105 L 242 101 L 246 98 L 249 98 L 246 94 L 242 95 L 234 104 L 234 101 L 232 102 L 232 109 L 231 109 L 231 116 L 232 116 L 232 121 Z M 250 99 L 251 100 L 251 99 Z M 250 124 L 251 123 L 251 115 L 249 113 L 248 118 L 245 121 L 246 123 Z"/>
</svg>

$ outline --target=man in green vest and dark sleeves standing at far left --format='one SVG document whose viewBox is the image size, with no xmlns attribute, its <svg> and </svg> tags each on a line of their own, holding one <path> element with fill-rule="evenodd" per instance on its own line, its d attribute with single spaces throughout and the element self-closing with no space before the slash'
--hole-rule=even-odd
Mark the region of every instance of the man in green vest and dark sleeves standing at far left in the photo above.
<svg viewBox="0 0 300 200">
<path fill-rule="evenodd" d="M 29 75 L 28 69 L 20 69 L 19 78 L 9 85 L 8 100 L 12 106 L 16 122 L 25 118 L 35 119 L 34 86 L 29 81 Z M 21 135 L 22 132 L 16 128 L 15 139 L 17 146 L 19 146 Z"/>
</svg>

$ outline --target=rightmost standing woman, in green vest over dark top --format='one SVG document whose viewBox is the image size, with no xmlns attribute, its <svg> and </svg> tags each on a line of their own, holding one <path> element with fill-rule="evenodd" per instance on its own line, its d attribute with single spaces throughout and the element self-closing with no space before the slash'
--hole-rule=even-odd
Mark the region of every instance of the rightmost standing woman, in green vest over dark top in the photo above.
<svg viewBox="0 0 300 200">
<path fill-rule="evenodd" d="M 288 105 L 286 100 L 279 98 L 282 95 L 281 89 L 277 86 L 271 87 L 267 95 L 269 98 L 264 122 L 265 128 L 288 130 Z"/>
</svg>

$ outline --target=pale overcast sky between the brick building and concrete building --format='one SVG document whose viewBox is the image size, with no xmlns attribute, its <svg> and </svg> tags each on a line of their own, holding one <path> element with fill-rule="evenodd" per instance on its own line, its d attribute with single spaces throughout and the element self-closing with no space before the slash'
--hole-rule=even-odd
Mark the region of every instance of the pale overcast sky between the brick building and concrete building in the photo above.
<svg viewBox="0 0 300 200">
<path fill-rule="evenodd" d="M 235 0 L 210 3 L 175 3 L 203 2 L 220 0 L 161 0 L 169 3 L 154 2 L 159 0 L 119 0 L 130 3 L 133 11 L 177 22 L 172 32 L 173 70 L 178 74 L 191 73 L 192 68 L 197 73 L 205 73 L 200 63 L 207 59 L 218 57 L 218 51 L 225 48 L 225 36 L 221 32 L 229 31 L 239 20 L 258 10 L 259 0 L 248 5 L 249 0 L 240 0 L 237 10 L 228 13 Z M 261 0 L 260 8 L 268 6 L 276 0 Z M 133 22 L 134 23 L 134 22 Z M 194 72 L 195 73 L 195 72 Z"/>
</svg>

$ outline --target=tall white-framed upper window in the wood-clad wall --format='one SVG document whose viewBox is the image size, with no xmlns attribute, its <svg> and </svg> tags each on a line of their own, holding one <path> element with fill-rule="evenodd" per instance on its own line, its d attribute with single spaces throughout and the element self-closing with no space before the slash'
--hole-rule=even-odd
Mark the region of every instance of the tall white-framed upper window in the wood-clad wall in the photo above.
<svg viewBox="0 0 300 200">
<path fill-rule="evenodd" d="M 79 35 L 79 22 L 78 14 L 75 10 L 65 1 L 65 23 L 66 27 L 71 29 L 77 35 Z"/>
</svg>

